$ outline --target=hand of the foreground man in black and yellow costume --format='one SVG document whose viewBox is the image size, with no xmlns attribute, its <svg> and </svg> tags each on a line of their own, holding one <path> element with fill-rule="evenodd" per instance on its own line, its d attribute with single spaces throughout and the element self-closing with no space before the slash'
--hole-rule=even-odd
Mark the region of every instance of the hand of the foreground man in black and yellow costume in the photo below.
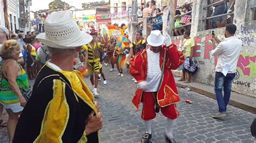
<svg viewBox="0 0 256 143">
<path fill-rule="evenodd" d="M 97 132 L 100 129 L 102 129 L 103 125 L 103 119 L 102 119 L 102 112 L 98 112 L 96 116 L 93 116 L 95 114 L 94 111 L 92 111 L 86 121 L 85 125 L 85 134 L 89 135 L 91 133 Z"/>
</svg>

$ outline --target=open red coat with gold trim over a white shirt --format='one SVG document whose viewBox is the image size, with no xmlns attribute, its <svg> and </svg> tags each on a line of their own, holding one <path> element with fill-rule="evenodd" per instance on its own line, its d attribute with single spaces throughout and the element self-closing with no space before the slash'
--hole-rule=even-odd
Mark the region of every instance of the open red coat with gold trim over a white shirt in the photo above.
<svg viewBox="0 0 256 143">
<path fill-rule="evenodd" d="M 168 106 L 180 101 L 176 83 L 172 75 L 172 69 L 177 69 L 184 63 L 184 54 L 177 51 L 176 45 L 169 47 L 163 46 L 160 51 L 160 68 L 162 69 L 164 61 L 164 51 L 166 49 L 166 59 L 164 66 L 164 76 L 161 81 L 160 89 L 157 92 L 157 101 L 160 107 Z M 147 78 L 147 52 L 137 53 L 130 61 L 130 74 L 139 82 L 146 81 Z M 156 85 L 158 86 L 158 85 Z M 137 89 L 132 99 L 132 103 L 138 110 L 142 99 L 143 89 Z"/>
</svg>

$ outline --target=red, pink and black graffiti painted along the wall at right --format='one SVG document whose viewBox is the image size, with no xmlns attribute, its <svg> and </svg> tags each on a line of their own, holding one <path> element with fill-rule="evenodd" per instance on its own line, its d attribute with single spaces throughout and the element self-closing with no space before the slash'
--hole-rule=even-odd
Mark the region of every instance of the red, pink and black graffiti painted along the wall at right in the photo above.
<svg viewBox="0 0 256 143">
<path fill-rule="evenodd" d="M 252 28 L 250 29 L 247 28 L 245 30 L 245 28 L 246 27 L 242 27 L 242 31 L 238 33 L 242 36 L 245 36 L 245 35 L 252 36 L 252 34 L 256 32 L 256 27 L 253 28 L 253 30 Z M 217 62 L 218 62 L 217 56 L 215 57 L 211 56 L 212 42 L 210 41 L 210 39 L 211 39 L 210 34 L 205 35 L 204 37 L 194 37 L 195 46 L 193 49 L 193 56 L 196 59 L 196 62 L 198 65 L 198 72 L 205 72 L 204 70 L 202 70 L 202 68 L 208 66 L 207 61 L 214 63 L 215 66 L 217 65 Z M 222 37 L 220 39 L 221 41 L 224 41 Z M 251 45 L 253 43 L 252 40 L 254 41 L 254 39 L 251 39 L 251 42 L 246 40 L 243 41 L 244 46 L 246 46 L 245 44 Z M 183 46 L 183 41 L 184 41 L 183 37 L 172 39 L 172 43 L 176 44 L 180 51 Z M 256 67 L 256 54 L 241 53 L 239 55 L 239 59 L 237 63 L 237 73 L 235 75 L 233 84 L 246 87 L 246 88 L 251 88 L 252 84 L 250 82 L 250 79 L 256 75 L 255 67 Z"/>
</svg>

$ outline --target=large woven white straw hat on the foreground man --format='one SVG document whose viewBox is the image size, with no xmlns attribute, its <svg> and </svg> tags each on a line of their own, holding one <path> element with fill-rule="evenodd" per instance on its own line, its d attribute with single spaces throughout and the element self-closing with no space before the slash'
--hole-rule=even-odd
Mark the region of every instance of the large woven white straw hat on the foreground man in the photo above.
<svg viewBox="0 0 256 143">
<path fill-rule="evenodd" d="M 52 48 L 76 48 L 88 44 L 92 36 L 80 32 L 68 11 L 54 12 L 45 19 L 45 33 L 37 35 L 38 41 Z"/>
</svg>

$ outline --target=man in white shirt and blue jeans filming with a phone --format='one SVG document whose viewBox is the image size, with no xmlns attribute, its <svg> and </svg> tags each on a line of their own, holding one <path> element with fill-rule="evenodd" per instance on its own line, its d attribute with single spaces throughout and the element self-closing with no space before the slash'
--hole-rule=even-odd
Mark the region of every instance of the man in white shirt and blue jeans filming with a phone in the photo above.
<svg viewBox="0 0 256 143">
<path fill-rule="evenodd" d="M 215 69 L 214 90 L 219 106 L 219 112 L 212 115 L 212 118 L 226 116 L 227 104 L 230 101 L 231 84 L 235 77 L 237 62 L 242 48 L 242 41 L 234 37 L 237 26 L 227 24 L 225 29 L 225 40 L 220 41 L 212 32 L 212 56 L 218 56 L 218 63 Z M 215 44 L 218 43 L 216 47 Z M 222 93 L 224 89 L 224 96 Z"/>
</svg>

